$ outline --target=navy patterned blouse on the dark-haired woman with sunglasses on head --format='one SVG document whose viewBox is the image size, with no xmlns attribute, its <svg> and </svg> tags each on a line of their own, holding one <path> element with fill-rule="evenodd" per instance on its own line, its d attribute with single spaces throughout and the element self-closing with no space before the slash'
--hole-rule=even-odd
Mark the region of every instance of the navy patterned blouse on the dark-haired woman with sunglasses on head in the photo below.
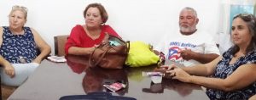
<svg viewBox="0 0 256 100">
<path fill-rule="evenodd" d="M 235 64 L 230 64 L 230 61 L 233 58 L 231 48 L 232 47 L 230 47 L 230 49 L 223 54 L 223 58 L 218 62 L 217 68 L 212 77 L 225 79 L 242 64 L 256 64 L 256 50 L 253 50 L 253 52 L 238 58 Z M 206 93 L 211 100 L 247 100 L 249 97 L 256 94 L 256 81 L 241 90 L 236 90 L 233 92 L 207 89 Z"/>
</svg>

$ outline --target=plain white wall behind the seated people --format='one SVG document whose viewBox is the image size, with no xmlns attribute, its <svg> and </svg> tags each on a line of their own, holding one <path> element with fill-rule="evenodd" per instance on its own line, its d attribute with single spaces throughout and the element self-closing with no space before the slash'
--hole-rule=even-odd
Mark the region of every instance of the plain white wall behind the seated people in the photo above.
<svg viewBox="0 0 256 100">
<path fill-rule="evenodd" d="M 0 25 L 9 25 L 8 14 L 15 4 L 28 8 L 26 26 L 36 29 L 54 52 L 53 36 L 68 35 L 74 25 L 84 24 L 89 3 L 102 3 L 111 25 L 125 40 L 156 44 L 165 34 L 178 30 L 178 14 L 186 6 L 195 8 L 198 28 L 218 35 L 221 0 L 0 0 Z M 159 40 L 159 41 L 157 41 Z M 218 39 L 216 39 L 218 41 Z"/>
</svg>

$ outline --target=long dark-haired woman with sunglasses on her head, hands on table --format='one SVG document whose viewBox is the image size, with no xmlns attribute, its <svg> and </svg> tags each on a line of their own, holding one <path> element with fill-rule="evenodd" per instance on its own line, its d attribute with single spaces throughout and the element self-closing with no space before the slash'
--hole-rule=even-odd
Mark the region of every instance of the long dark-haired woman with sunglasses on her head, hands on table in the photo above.
<svg viewBox="0 0 256 100">
<path fill-rule="evenodd" d="M 207 87 L 211 100 L 247 100 L 256 94 L 256 23 L 253 14 L 233 18 L 235 44 L 208 64 L 169 67 L 172 79 Z"/>
</svg>

